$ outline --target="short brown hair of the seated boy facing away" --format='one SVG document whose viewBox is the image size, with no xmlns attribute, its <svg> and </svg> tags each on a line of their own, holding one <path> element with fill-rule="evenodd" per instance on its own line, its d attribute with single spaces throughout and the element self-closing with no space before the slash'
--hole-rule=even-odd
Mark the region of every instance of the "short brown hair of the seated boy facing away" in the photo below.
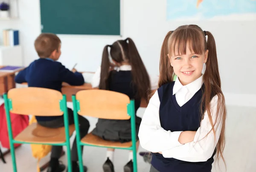
<svg viewBox="0 0 256 172">
<path fill-rule="evenodd" d="M 40 58 L 48 58 L 60 46 L 61 39 L 55 34 L 43 33 L 35 39 L 35 51 Z"/>
</svg>

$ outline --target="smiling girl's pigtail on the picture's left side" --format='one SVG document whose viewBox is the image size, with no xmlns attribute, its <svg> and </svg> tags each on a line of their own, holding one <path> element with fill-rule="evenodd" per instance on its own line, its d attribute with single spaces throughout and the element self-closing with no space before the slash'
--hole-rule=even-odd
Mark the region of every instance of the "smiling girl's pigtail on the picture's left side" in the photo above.
<svg viewBox="0 0 256 172">
<path fill-rule="evenodd" d="M 173 31 L 169 31 L 163 40 L 161 54 L 160 54 L 160 64 L 159 64 L 160 75 L 159 75 L 158 87 L 161 87 L 162 85 L 168 82 L 172 82 L 174 79 L 174 71 L 171 66 L 170 60 L 167 56 L 167 54 L 169 53 L 168 42 L 172 32 Z"/>
</svg>

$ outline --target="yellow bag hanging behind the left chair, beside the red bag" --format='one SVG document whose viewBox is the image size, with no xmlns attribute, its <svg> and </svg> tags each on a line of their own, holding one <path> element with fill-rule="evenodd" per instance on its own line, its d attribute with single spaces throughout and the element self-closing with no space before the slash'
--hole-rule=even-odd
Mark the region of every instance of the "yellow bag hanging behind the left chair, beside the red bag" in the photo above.
<svg viewBox="0 0 256 172">
<path fill-rule="evenodd" d="M 32 123 L 36 123 L 36 118 L 35 116 L 32 116 L 32 118 L 29 121 L 29 125 Z M 40 166 L 39 166 L 39 161 L 41 158 L 44 158 L 45 156 L 48 155 L 49 152 L 52 150 L 52 145 L 47 145 L 47 144 L 31 144 L 31 149 L 32 149 L 32 155 L 34 158 L 38 159 L 37 163 L 37 170 L 40 172 Z"/>
</svg>

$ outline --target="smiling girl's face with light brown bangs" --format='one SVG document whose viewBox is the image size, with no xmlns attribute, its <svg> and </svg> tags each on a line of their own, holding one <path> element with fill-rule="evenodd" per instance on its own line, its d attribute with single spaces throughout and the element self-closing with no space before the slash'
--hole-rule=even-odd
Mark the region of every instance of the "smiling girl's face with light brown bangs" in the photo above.
<svg viewBox="0 0 256 172">
<path fill-rule="evenodd" d="M 204 63 L 207 62 L 206 40 L 204 31 L 197 25 L 184 25 L 172 31 L 166 49 L 168 76 L 175 73 L 182 85 L 198 79 L 202 75 Z"/>
</svg>

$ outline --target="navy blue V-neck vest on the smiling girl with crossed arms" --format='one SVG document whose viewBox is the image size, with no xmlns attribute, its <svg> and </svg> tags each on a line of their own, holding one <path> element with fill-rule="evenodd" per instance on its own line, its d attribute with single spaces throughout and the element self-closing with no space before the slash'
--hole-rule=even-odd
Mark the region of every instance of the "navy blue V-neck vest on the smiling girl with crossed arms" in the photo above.
<svg viewBox="0 0 256 172">
<path fill-rule="evenodd" d="M 160 100 L 161 127 L 172 132 L 197 131 L 201 122 L 202 89 L 198 90 L 188 102 L 180 107 L 175 95 L 172 95 L 174 83 L 162 85 L 157 90 Z M 215 152 L 206 162 L 186 162 L 175 158 L 164 158 L 159 153 L 153 153 L 151 164 L 160 172 L 210 172 L 214 155 Z"/>
</svg>

